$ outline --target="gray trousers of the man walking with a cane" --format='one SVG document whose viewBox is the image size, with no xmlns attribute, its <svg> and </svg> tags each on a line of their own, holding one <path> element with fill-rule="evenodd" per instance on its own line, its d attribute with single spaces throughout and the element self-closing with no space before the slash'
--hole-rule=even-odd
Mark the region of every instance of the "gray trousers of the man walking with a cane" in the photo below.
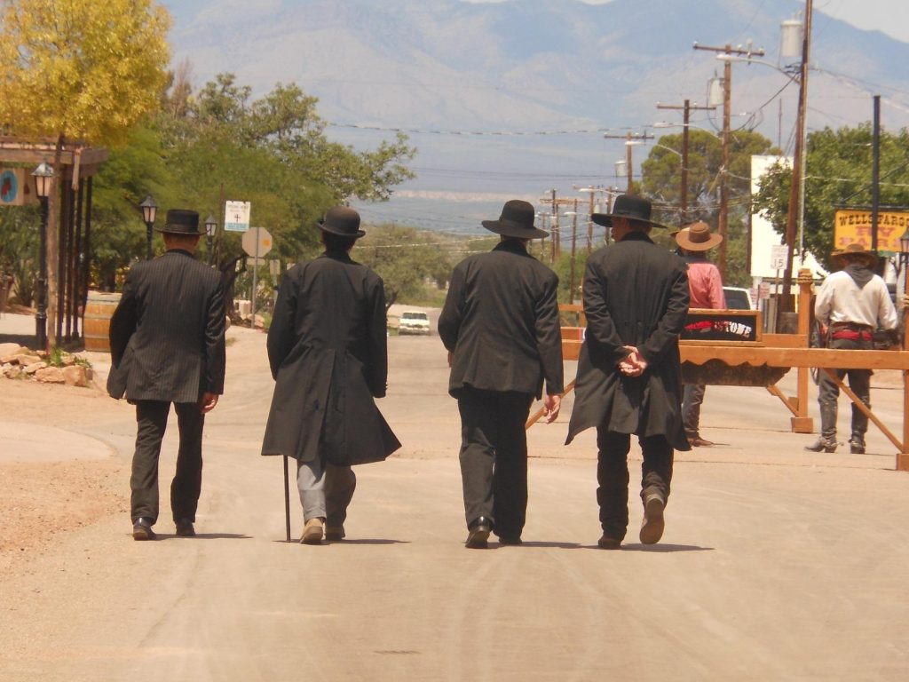
<svg viewBox="0 0 909 682">
<path fill-rule="evenodd" d="M 356 489 L 356 475 L 350 466 L 329 464 L 321 456 L 309 462 L 297 461 L 296 486 L 304 521 L 323 517 L 325 526 L 344 526 Z"/>
</svg>

